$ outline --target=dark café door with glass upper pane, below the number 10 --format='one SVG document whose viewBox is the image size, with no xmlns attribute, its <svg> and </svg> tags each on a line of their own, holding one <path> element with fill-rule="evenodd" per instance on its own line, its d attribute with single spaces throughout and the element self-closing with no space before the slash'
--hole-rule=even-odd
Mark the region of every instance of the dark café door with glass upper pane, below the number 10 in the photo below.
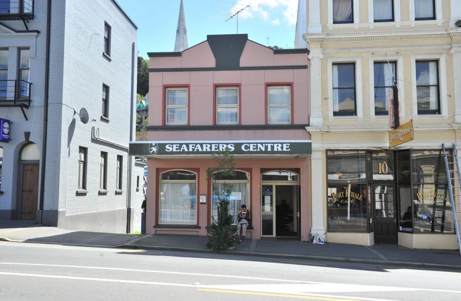
<svg viewBox="0 0 461 301">
<path fill-rule="evenodd" d="M 397 243 L 395 184 L 373 185 L 375 243 Z"/>
</svg>

